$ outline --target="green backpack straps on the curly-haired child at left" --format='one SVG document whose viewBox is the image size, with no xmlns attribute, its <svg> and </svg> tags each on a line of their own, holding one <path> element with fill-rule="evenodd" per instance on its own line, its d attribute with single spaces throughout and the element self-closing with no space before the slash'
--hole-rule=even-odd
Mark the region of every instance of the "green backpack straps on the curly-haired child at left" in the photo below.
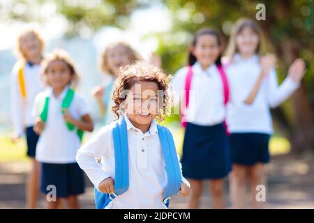
<svg viewBox="0 0 314 223">
<path fill-rule="evenodd" d="M 64 109 L 68 109 L 68 107 L 70 107 L 70 104 L 74 98 L 74 95 L 75 95 L 75 92 L 73 89 L 68 89 L 68 91 L 66 92 L 66 96 L 63 98 L 63 101 L 62 101 L 62 105 L 61 105 L 61 112 L 62 114 L 64 114 Z M 43 107 L 41 109 L 41 112 L 39 114 L 41 120 L 46 123 L 47 122 L 47 118 L 48 118 L 48 106 L 49 106 L 49 96 L 47 96 L 45 98 L 45 102 L 43 103 Z M 68 130 L 70 131 L 73 131 L 75 130 L 75 126 L 71 123 L 66 123 L 66 126 L 68 128 Z M 77 129 L 76 130 L 77 132 L 77 136 L 80 138 L 80 141 L 82 141 L 83 139 L 83 130 L 80 130 L 80 129 Z"/>
</svg>

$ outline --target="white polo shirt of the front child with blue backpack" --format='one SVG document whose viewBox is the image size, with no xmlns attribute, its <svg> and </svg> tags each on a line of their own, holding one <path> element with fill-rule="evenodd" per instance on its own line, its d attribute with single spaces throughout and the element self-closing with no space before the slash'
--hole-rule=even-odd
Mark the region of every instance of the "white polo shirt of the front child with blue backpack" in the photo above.
<svg viewBox="0 0 314 223">
<path fill-rule="evenodd" d="M 134 127 L 127 116 L 125 118 L 128 131 L 130 183 L 128 190 L 110 202 L 106 208 L 166 208 L 163 204 L 163 194 L 167 185 L 167 174 L 156 120 L 151 123 L 149 131 L 143 134 Z M 97 188 L 105 178 L 114 179 L 112 130 L 115 123 L 106 125 L 77 151 L 77 163 Z M 100 157 L 101 164 L 96 160 Z M 189 186 L 183 176 L 182 181 Z"/>
</svg>

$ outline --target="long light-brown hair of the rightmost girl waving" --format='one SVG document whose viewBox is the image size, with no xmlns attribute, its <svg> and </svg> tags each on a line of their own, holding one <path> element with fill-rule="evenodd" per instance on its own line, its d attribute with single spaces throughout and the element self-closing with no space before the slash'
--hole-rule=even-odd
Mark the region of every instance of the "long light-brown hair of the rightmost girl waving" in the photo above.
<svg viewBox="0 0 314 223">
<path fill-rule="evenodd" d="M 240 18 L 239 20 L 235 22 L 234 26 L 232 27 L 232 33 L 231 33 L 230 40 L 229 40 L 229 43 L 227 45 L 227 49 L 225 52 L 225 56 L 227 56 L 227 59 L 232 60 L 234 54 L 238 52 L 236 39 L 239 33 L 246 27 L 252 29 L 259 37 L 259 43 L 257 45 L 256 53 L 261 55 L 262 47 L 264 44 L 263 44 L 262 31 L 260 30 L 260 27 L 256 24 L 256 22 L 254 22 L 251 19 Z"/>
</svg>

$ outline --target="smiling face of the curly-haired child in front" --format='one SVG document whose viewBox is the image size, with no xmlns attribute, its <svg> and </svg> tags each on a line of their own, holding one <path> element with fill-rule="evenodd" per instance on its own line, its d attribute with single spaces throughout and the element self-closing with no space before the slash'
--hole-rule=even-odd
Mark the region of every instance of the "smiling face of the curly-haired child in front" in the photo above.
<svg viewBox="0 0 314 223">
<path fill-rule="evenodd" d="M 158 114 L 158 85 L 155 82 L 137 82 L 125 100 L 125 111 L 137 125 L 150 125 Z"/>
</svg>

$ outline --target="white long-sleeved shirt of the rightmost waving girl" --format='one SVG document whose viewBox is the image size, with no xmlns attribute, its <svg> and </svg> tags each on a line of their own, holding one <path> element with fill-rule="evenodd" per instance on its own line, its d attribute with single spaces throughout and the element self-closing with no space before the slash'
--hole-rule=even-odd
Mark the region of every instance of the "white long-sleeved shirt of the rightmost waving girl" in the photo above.
<svg viewBox="0 0 314 223">
<path fill-rule="evenodd" d="M 232 98 L 247 98 L 260 75 L 259 56 L 243 59 L 239 54 L 227 67 Z M 230 132 L 273 132 L 270 108 L 277 107 L 298 89 L 300 83 L 286 77 L 278 86 L 276 70 L 271 70 L 253 101 L 246 105 L 231 101 L 227 107 L 227 125 Z M 245 97 L 244 97 L 245 96 Z"/>
</svg>

